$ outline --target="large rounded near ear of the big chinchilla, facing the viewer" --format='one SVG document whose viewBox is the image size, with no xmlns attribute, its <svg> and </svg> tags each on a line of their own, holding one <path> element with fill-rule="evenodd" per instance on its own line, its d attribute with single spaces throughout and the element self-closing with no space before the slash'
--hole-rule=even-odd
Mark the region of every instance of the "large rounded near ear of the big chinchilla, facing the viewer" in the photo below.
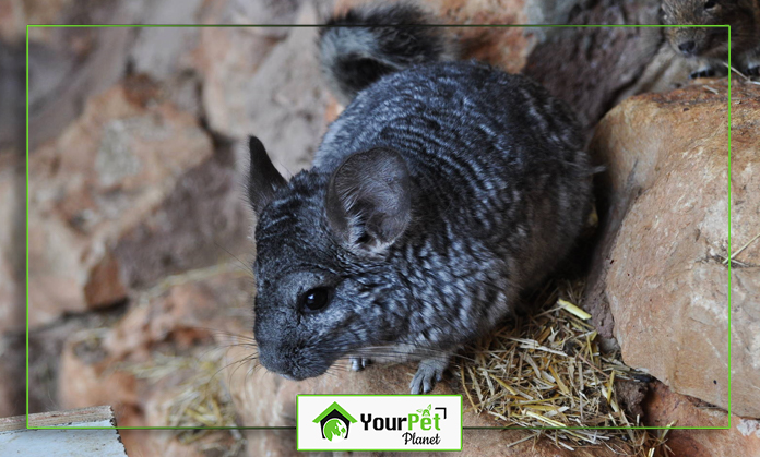
<svg viewBox="0 0 760 457">
<path fill-rule="evenodd" d="M 406 229 L 411 193 L 409 173 L 399 153 L 378 147 L 353 154 L 330 178 L 330 228 L 351 249 L 379 253 Z"/>
</svg>

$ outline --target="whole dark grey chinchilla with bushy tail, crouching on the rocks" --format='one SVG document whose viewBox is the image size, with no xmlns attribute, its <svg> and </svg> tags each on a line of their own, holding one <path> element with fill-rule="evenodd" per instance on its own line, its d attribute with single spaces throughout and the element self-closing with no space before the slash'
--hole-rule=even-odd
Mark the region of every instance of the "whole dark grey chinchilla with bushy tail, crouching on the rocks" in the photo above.
<svg viewBox="0 0 760 457">
<path fill-rule="evenodd" d="M 572 112 L 525 76 L 442 61 L 441 29 L 372 25 L 424 20 L 395 4 L 323 29 L 325 74 L 351 101 L 313 168 L 286 182 L 248 142 L 256 341 L 287 378 L 401 358 L 419 360 L 412 393 L 430 392 L 586 220 L 592 168 Z M 421 55 L 387 55 L 405 43 Z"/>
</svg>

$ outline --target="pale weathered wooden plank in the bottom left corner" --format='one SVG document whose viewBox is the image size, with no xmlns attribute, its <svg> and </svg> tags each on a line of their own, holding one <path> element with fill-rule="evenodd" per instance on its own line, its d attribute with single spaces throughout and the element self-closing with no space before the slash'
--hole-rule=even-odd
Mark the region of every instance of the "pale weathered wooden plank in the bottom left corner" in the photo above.
<svg viewBox="0 0 760 457">
<path fill-rule="evenodd" d="M 29 426 L 115 426 L 109 406 L 29 416 Z M 0 419 L 0 456 L 126 457 L 116 429 L 29 430 L 26 418 Z"/>
</svg>

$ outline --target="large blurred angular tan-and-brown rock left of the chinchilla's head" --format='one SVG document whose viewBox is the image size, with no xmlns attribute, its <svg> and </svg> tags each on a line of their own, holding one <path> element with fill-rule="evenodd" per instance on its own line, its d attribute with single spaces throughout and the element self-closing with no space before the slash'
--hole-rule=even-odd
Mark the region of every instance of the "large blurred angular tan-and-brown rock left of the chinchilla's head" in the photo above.
<svg viewBox="0 0 760 457">
<path fill-rule="evenodd" d="M 173 104 L 117 85 L 29 159 L 29 324 L 109 305 L 127 289 L 245 241 L 230 151 Z"/>
</svg>

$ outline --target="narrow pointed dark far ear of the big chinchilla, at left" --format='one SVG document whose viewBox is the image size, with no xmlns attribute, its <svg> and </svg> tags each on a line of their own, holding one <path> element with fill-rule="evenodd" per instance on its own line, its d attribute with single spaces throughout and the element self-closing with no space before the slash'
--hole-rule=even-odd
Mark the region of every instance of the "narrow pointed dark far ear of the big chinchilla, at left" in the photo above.
<svg viewBox="0 0 760 457">
<path fill-rule="evenodd" d="M 248 189 L 248 200 L 253 208 L 253 213 L 259 215 L 269 204 L 278 188 L 287 185 L 285 178 L 280 175 L 272 160 L 266 155 L 264 145 L 256 136 L 249 136 L 246 143 L 248 151 L 241 154 L 246 172 L 246 188 Z"/>
</svg>

